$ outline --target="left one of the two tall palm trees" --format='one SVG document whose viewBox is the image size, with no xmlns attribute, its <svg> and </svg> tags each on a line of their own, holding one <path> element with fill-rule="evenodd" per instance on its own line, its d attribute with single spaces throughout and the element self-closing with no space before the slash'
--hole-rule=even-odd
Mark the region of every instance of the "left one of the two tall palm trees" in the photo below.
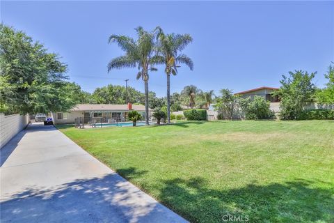
<svg viewBox="0 0 334 223">
<path fill-rule="evenodd" d="M 138 68 L 136 79 L 141 78 L 145 83 L 145 123 L 149 125 L 148 72 L 156 71 L 157 68 L 153 66 L 158 64 L 159 61 L 159 58 L 153 55 L 157 29 L 149 32 L 139 26 L 135 30 L 138 36 L 136 40 L 128 36 L 111 35 L 109 37 L 109 43 L 117 42 L 118 46 L 125 51 L 125 55 L 111 59 L 108 64 L 108 72 L 111 69 Z"/>
</svg>

